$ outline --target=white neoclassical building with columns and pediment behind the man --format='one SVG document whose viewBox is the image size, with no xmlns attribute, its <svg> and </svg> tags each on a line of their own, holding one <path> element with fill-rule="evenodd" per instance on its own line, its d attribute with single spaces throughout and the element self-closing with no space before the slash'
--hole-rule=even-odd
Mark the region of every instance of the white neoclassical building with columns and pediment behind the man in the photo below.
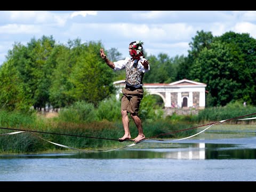
<svg viewBox="0 0 256 192">
<path fill-rule="evenodd" d="M 125 86 L 124 80 L 114 82 L 118 87 L 117 98 Z M 164 102 L 165 108 L 205 108 L 206 84 L 188 79 L 182 79 L 173 83 L 145 83 L 144 89 L 149 94 L 159 95 Z"/>
</svg>

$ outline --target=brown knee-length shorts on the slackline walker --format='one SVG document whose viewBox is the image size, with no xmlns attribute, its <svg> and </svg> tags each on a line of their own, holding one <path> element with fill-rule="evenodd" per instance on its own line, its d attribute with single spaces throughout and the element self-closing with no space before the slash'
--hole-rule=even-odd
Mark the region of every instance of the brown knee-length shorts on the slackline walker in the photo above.
<svg viewBox="0 0 256 192">
<path fill-rule="evenodd" d="M 135 88 L 133 86 L 126 85 L 122 89 L 123 97 L 121 100 L 121 110 L 127 110 L 132 115 L 138 115 L 140 101 L 143 98 L 143 88 Z"/>
</svg>

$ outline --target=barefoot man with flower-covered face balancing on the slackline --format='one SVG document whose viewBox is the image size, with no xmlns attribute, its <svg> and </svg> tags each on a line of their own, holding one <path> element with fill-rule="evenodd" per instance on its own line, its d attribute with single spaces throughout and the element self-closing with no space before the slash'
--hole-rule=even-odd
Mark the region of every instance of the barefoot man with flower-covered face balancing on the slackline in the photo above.
<svg viewBox="0 0 256 192">
<path fill-rule="evenodd" d="M 107 65 L 117 70 L 125 69 L 125 88 L 122 89 L 123 97 L 121 100 L 121 114 L 122 123 L 124 126 L 124 136 L 119 138 L 120 142 L 131 139 L 129 129 L 129 117 L 127 113 L 130 113 L 135 125 L 138 129 L 138 136 L 133 141 L 138 142 L 145 139 L 143 134 L 141 119 L 138 116 L 140 101 L 143 98 L 142 79 L 143 75 L 150 70 L 149 61 L 145 59 L 143 53 L 143 42 L 131 42 L 129 45 L 129 53 L 132 58 L 125 58 L 116 62 L 109 61 L 104 53 L 103 49 L 100 49 L 100 56 L 105 60 Z"/>
</svg>

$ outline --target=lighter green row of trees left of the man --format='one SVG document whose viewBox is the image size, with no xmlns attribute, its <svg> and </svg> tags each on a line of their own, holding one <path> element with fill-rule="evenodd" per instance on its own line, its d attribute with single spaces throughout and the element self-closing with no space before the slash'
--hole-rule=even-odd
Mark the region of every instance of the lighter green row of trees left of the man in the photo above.
<svg viewBox="0 0 256 192">
<path fill-rule="evenodd" d="M 57 44 L 53 37 L 15 43 L 0 68 L 0 108 L 29 110 L 97 103 L 114 92 L 113 71 L 99 56 L 100 42 Z"/>
</svg>

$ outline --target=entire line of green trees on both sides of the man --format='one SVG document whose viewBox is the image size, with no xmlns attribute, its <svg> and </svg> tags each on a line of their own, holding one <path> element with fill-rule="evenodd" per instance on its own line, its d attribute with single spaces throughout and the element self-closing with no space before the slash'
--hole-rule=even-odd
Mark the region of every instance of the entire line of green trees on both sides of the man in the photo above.
<svg viewBox="0 0 256 192">
<path fill-rule="evenodd" d="M 234 101 L 255 106 L 254 38 L 232 31 L 216 37 L 197 31 L 189 45 L 187 57 L 146 53 L 151 70 L 143 82 L 171 83 L 187 78 L 207 84 L 206 107 Z M 100 47 L 100 41 L 81 43 L 79 38 L 59 44 L 52 36 L 32 38 L 27 45 L 14 43 L 0 66 L 0 109 L 59 109 L 79 101 L 98 107 L 115 94 L 113 82 L 125 78 L 124 71 L 114 73 L 100 58 Z M 112 61 L 122 59 L 117 49 L 106 53 Z"/>
</svg>

